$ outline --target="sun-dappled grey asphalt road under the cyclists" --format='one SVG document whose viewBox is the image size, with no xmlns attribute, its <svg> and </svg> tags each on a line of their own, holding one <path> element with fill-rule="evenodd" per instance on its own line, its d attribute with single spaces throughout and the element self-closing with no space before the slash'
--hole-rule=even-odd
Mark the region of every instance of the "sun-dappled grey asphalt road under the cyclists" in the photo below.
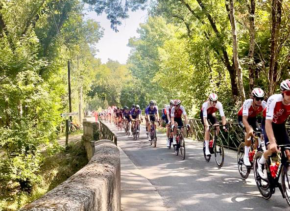
<svg viewBox="0 0 290 211">
<path fill-rule="evenodd" d="M 217 168 L 214 157 L 206 162 L 202 143 L 186 139 L 186 159 L 166 147 L 166 135 L 157 134 L 157 147 L 149 146 L 145 127 L 137 141 L 118 132 L 118 146 L 157 189 L 168 211 L 282 211 L 290 210 L 280 190 L 269 200 L 262 198 L 253 172 L 242 180 L 237 153 L 225 150 L 224 165 Z"/>
</svg>

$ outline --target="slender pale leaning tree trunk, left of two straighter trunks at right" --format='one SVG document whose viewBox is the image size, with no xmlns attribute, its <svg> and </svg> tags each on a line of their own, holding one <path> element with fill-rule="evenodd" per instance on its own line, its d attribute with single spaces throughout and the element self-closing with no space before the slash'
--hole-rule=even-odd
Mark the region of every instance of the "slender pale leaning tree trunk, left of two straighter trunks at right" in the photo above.
<svg viewBox="0 0 290 211">
<path fill-rule="evenodd" d="M 234 8 L 234 0 L 230 0 L 230 22 L 232 26 L 232 37 L 233 37 L 233 58 L 235 69 L 238 75 L 238 88 L 242 102 L 245 100 L 245 93 L 243 88 L 243 80 L 242 80 L 242 67 L 240 65 L 239 56 L 238 56 L 238 39 L 237 39 L 237 31 L 236 31 L 236 20 L 235 20 L 235 8 Z"/>
</svg>

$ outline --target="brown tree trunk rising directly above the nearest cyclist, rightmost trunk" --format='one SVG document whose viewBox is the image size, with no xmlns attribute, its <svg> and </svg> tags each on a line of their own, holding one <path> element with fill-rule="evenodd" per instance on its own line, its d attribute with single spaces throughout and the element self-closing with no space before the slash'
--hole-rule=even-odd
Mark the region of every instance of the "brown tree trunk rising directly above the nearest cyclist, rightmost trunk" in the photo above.
<svg viewBox="0 0 290 211">
<path fill-rule="evenodd" d="M 281 26 L 282 0 L 272 0 L 271 5 L 271 56 L 269 65 L 269 96 L 274 94 L 277 84 L 278 55 L 281 48 L 278 48 L 278 39 Z"/>
</svg>

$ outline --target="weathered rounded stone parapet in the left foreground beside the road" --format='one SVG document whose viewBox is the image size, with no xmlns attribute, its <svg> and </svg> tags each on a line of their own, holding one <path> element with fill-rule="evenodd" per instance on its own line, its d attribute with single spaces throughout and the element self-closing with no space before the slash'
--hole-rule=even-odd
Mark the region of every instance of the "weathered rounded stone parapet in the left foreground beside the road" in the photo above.
<svg viewBox="0 0 290 211">
<path fill-rule="evenodd" d="M 114 142 L 95 142 L 89 163 L 21 211 L 121 211 L 120 152 Z"/>
</svg>

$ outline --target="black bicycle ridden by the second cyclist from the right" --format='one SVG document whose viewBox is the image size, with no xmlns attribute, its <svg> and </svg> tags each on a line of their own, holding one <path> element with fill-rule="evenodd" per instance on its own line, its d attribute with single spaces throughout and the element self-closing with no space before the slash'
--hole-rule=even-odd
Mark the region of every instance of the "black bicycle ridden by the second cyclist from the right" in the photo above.
<svg viewBox="0 0 290 211">
<path fill-rule="evenodd" d="M 258 140 L 258 147 L 256 150 L 254 150 L 255 139 Z M 242 179 L 244 180 L 248 178 L 251 172 L 251 169 L 253 168 L 253 162 L 254 162 L 254 157 L 256 153 L 257 152 L 263 153 L 264 151 L 266 151 L 266 146 L 265 146 L 261 129 L 255 131 L 255 137 L 250 137 L 248 140 L 251 140 L 252 142 L 251 147 L 250 147 L 250 152 L 249 152 L 249 160 L 250 160 L 251 166 L 246 166 L 243 163 L 245 143 L 242 142 L 238 148 L 238 169 L 239 169 L 239 173 Z"/>
</svg>

